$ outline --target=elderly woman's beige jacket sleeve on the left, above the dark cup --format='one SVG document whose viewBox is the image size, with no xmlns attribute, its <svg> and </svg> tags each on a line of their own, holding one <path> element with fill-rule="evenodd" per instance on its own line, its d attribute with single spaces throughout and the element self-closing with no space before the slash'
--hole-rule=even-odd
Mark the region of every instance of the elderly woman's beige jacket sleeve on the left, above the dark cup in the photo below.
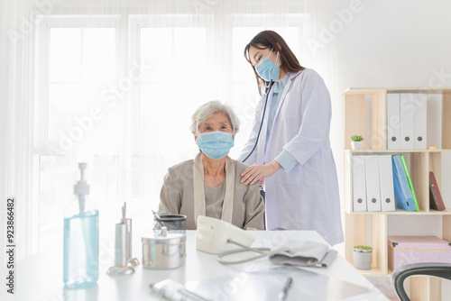
<svg viewBox="0 0 451 301">
<path fill-rule="evenodd" d="M 171 169 L 164 176 L 160 193 L 158 214 L 179 214 L 181 206 L 180 190 L 175 179 L 171 176 Z"/>
</svg>

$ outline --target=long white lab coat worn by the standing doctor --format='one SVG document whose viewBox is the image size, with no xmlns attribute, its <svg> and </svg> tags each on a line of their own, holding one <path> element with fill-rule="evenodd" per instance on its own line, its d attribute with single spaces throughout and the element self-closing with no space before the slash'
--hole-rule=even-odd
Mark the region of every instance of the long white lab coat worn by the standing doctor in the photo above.
<svg viewBox="0 0 451 301">
<path fill-rule="evenodd" d="M 257 105 L 253 132 L 238 160 L 244 160 L 253 148 L 265 97 Z M 315 230 L 331 245 L 343 242 L 336 164 L 329 141 L 331 101 L 323 78 L 308 68 L 290 75 L 265 150 L 271 102 L 272 92 L 261 137 L 245 163 L 271 163 L 287 150 L 299 164 L 290 172 L 280 169 L 265 178 L 268 229 Z"/>
</svg>

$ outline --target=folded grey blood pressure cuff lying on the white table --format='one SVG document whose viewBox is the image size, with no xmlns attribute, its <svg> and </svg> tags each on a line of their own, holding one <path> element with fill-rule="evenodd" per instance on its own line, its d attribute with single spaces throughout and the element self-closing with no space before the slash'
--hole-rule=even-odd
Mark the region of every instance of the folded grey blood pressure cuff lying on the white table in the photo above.
<svg viewBox="0 0 451 301">
<path fill-rule="evenodd" d="M 327 268 L 336 259 L 336 250 L 321 242 L 287 242 L 272 251 L 269 260 L 275 264 Z"/>
</svg>

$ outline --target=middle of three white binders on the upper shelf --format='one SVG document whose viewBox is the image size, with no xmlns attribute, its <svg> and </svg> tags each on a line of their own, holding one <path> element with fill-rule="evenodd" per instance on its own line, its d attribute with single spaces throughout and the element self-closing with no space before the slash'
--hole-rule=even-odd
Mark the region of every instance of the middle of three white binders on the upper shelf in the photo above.
<svg viewBox="0 0 451 301">
<path fill-rule="evenodd" d="M 400 94 L 400 149 L 413 150 L 414 94 Z"/>
</svg>

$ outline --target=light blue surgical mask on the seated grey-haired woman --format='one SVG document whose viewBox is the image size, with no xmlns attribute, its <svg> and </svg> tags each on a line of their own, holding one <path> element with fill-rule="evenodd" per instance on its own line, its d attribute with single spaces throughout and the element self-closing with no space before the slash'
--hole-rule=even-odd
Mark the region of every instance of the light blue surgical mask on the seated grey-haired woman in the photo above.
<svg viewBox="0 0 451 301">
<path fill-rule="evenodd" d="M 198 148 L 211 159 L 218 160 L 226 157 L 233 146 L 232 132 L 201 132 L 198 135 Z"/>
</svg>

